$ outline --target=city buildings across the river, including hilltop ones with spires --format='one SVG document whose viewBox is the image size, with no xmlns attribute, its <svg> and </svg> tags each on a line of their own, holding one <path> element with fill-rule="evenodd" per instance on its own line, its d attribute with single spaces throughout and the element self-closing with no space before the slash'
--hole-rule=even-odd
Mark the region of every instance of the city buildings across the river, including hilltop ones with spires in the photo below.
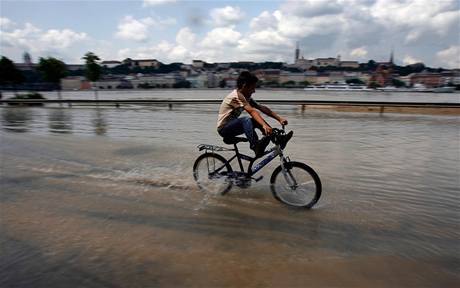
<svg viewBox="0 0 460 288">
<path fill-rule="evenodd" d="M 114 68 L 116 67 L 127 68 L 124 71 L 128 72 L 105 73 L 102 79 L 95 83 L 86 81 L 83 76 L 66 77 L 62 79 L 62 89 L 81 90 L 92 87 L 98 89 L 233 88 L 236 86 L 236 79 L 241 71 L 246 70 L 247 67 L 257 68 L 261 66 L 261 63 L 255 62 L 206 63 L 202 60 L 193 60 L 191 64 L 175 63 L 177 65 L 169 73 L 157 73 L 154 70 L 161 68 L 164 64 L 156 59 L 127 58 L 123 61 L 102 61 L 100 64 L 109 72 L 115 71 Z M 34 70 L 37 64 L 32 63 L 30 55 L 26 53 L 24 63 L 17 63 L 16 66 L 20 70 Z M 328 67 L 328 69 L 318 69 L 322 67 Z M 358 82 L 368 86 L 385 87 L 392 86 L 394 79 L 404 83 L 407 87 L 415 84 L 424 85 L 428 88 L 460 85 L 460 69 L 444 70 L 439 73 L 421 71 L 420 73 L 400 76 L 394 73 L 393 53 L 391 53 L 388 62 L 376 63 L 376 68 L 372 71 L 363 71 L 358 69 L 359 67 L 360 64 L 357 61 L 342 61 L 340 55 L 329 58 L 304 59 L 300 57 L 300 50 L 297 47 L 294 63 L 284 63 L 278 69 L 251 69 L 251 71 L 262 81 L 262 87 L 305 87 L 315 84 L 344 83 L 349 80 L 359 80 Z M 67 64 L 69 71 L 82 71 L 84 68 L 84 65 L 80 64 Z M 82 74 L 80 73 L 80 75 Z"/>
</svg>

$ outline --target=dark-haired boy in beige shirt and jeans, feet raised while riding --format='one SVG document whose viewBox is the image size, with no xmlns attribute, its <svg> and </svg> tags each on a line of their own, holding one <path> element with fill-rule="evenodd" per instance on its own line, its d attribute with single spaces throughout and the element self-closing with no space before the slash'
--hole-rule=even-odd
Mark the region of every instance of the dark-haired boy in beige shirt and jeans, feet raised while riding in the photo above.
<svg viewBox="0 0 460 288">
<path fill-rule="evenodd" d="M 217 132 L 225 139 L 245 134 L 249 147 L 256 157 L 261 157 L 267 145 L 270 143 L 272 128 L 257 111 L 276 119 L 281 125 L 287 125 L 287 119 L 279 116 L 267 106 L 257 103 L 251 96 L 259 79 L 248 71 L 241 72 L 237 80 L 237 89 L 228 94 L 222 101 L 217 119 Z M 257 109 L 257 110 L 256 110 Z M 251 117 L 239 117 L 245 110 Z M 255 128 L 258 128 L 264 137 L 259 140 Z M 291 139 L 293 132 L 290 131 L 282 139 L 283 148 Z"/>
</svg>

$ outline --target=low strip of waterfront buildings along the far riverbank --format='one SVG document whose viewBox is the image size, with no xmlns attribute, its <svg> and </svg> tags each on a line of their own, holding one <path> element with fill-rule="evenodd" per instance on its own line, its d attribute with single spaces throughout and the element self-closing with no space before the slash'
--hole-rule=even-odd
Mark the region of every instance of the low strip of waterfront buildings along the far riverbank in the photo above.
<svg viewBox="0 0 460 288">
<path fill-rule="evenodd" d="M 87 82 L 84 77 L 74 76 L 62 79 L 62 89 L 89 89 L 91 85 L 98 89 L 141 89 L 141 88 L 233 88 L 236 79 L 243 69 L 229 68 L 223 71 L 206 71 L 183 69 L 167 74 L 131 74 L 109 75 L 96 83 Z M 440 73 L 422 71 L 407 76 L 394 75 L 387 68 L 377 68 L 374 72 L 360 71 L 304 71 L 289 72 L 281 69 L 259 69 L 252 71 L 262 82 L 262 87 L 305 87 L 328 83 L 344 83 L 347 80 L 359 79 L 369 85 L 377 83 L 380 87 L 392 86 L 392 80 L 397 79 L 407 87 L 421 84 L 428 88 L 446 85 L 460 85 L 460 70 L 448 70 Z M 181 86 L 183 83 L 185 86 Z"/>
</svg>

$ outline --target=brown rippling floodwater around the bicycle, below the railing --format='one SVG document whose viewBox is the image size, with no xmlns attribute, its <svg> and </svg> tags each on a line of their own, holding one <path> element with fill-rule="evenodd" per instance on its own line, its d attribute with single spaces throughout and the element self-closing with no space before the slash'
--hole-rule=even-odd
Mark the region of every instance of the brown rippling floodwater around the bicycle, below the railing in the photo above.
<svg viewBox="0 0 460 288">
<path fill-rule="evenodd" d="M 298 210 L 275 161 L 197 189 L 217 108 L 1 107 L 0 286 L 458 287 L 460 117 L 273 107 L 323 183 Z"/>
</svg>

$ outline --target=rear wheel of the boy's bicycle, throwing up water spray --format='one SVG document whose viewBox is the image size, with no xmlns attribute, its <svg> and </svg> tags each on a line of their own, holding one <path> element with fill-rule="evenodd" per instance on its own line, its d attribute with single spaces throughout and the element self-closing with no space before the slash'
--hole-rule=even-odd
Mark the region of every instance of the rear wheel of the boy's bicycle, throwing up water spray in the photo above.
<svg viewBox="0 0 460 288">
<path fill-rule="evenodd" d="M 232 188 L 232 167 L 224 157 L 215 153 L 200 155 L 193 165 L 193 177 L 206 193 L 224 195 Z"/>
</svg>

